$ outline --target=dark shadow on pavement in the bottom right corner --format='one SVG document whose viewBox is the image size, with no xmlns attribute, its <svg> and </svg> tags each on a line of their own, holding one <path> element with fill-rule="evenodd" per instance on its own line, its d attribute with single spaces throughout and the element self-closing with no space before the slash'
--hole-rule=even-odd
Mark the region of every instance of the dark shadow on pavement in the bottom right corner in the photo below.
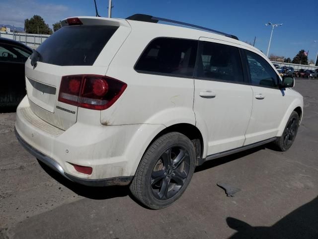
<svg viewBox="0 0 318 239">
<path fill-rule="evenodd" d="M 252 227 L 235 218 L 228 226 L 237 231 L 229 239 L 317 239 L 318 197 L 291 212 L 271 227 Z"/>
</svg>

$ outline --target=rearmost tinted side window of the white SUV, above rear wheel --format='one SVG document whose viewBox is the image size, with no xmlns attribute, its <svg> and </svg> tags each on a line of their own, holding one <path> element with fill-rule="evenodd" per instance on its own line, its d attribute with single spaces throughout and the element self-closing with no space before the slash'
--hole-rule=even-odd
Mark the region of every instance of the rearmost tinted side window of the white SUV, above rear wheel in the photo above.
<svg viewBox="0 0 318 239">
<path fill-rule="evenodd" d="M 153 40 L 135 65 L 136 71 L 192 76 L 198 41 L 177 38 Z"/>
</svg>

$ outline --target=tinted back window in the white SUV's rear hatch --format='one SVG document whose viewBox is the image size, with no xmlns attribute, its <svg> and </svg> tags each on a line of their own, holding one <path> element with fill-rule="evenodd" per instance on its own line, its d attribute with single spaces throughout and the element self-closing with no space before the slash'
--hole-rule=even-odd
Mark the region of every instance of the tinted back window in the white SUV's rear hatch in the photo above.
<svg viewBox="0 0 318 239">
<path fill-rule="evenodd" d="M 36 50 L 40 62 L 59 66 L 91 66 L 117 26 L 64 26 Z"/>
</svg>

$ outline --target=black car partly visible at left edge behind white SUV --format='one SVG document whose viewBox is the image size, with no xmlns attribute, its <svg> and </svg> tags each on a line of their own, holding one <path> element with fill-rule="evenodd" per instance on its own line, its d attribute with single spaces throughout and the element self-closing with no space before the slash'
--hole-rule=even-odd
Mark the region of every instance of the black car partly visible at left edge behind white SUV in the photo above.
<svg viewBox="0 0 318 239">
<path fill-rule="evenodd" d="M 26 95 L 24 63 L 31 54 L 30 47 L 0 38 L 0 107 L 17 106 Z"/>
</svg>

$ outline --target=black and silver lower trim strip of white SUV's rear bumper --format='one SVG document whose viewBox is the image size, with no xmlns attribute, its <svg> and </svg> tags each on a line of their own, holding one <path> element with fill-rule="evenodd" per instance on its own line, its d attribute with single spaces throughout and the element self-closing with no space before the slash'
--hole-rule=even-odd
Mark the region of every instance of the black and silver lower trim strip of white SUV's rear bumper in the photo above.
<svg viewBox="0 0 318 239">
<path fill-rule="evenodd" d="M 134 178 L 133 176 L 127 176 L 127 177 L 114 177 L 114 178 L 105 178 L 105 179 L 85 179 L 85 178 L 79 178 L 79 177 L 73 176 L 71 174 L 66 173 L 64 171 L 64 169 L 62 168 L 62 166 L 59 163 L 57 163 L 56 161 L 54 161 L 52 158 L 44 155 L 40 151 L 33 148 L 30 144 L 25 142 L 21 138 L 21 136 L 18 134 L 16 129 L 14 129 L 14 132 L 15 132 L 15 136 L 18 139 L 18 141 L 20 142 L 20 144 L 30 154 L 32 154 L 34 157 L 36 157 L 38 160 L 40 160 L 45 165 L 49 166 L 51 169 L 57 171 L 62 176 L 64 176 L 65 178 L 67 178 L 73 182 L 76 182 L 76 183 L 79 183 L 79 184 L 82 184 L 85 186 L 104 187 L 104 186 L 113 186 L 113 185 L 128 185 Z"/>
</svg>

